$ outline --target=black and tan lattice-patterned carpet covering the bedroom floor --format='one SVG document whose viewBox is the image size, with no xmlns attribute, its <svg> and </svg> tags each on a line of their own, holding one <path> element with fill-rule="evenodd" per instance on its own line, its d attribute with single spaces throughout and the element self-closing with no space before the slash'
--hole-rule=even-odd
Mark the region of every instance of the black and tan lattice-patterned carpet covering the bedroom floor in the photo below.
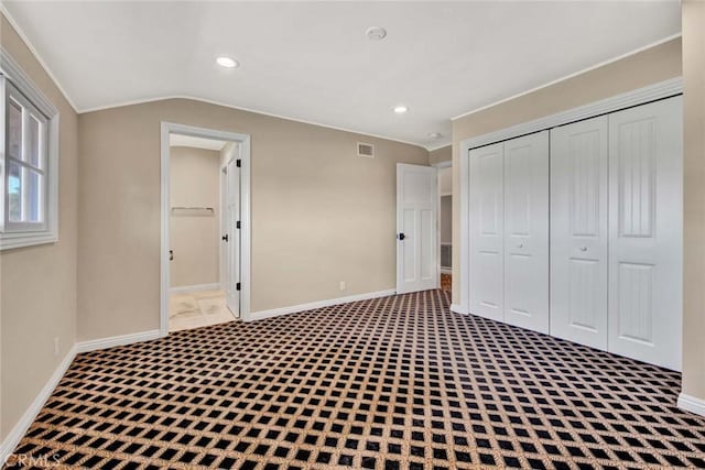
<svg viewBox="0 0 705 470">
<path fill-rule="evenodd" d="M 64 468 L 705 468 L 680 374 L 429 291 L 77 357 L 15 455 Z M 12 460 L 10 461 L 12 463 Z"/>
</svg>

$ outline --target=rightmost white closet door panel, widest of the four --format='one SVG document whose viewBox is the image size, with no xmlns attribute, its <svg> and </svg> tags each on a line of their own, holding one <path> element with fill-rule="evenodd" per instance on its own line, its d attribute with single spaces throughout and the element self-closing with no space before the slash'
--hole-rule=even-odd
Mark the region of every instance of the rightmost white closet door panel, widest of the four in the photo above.
<svg viewBox="0 0 705 470">
<path fill-rule="evenodd" d="M 609 351 L 681 368 L 682 98 L 609 116 Z"/>
</svg>

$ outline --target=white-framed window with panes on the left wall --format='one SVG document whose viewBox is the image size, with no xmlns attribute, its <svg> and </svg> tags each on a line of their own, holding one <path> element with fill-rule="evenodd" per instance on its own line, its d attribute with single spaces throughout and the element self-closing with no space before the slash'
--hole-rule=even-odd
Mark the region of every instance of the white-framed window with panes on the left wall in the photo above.
<svg viewBox="0 0 705 470">
<path fill-rule="evenodd" d="M 58 113 L 6 55 L 0 58 L 0 249 L 54 242 Z"/>
</svg>

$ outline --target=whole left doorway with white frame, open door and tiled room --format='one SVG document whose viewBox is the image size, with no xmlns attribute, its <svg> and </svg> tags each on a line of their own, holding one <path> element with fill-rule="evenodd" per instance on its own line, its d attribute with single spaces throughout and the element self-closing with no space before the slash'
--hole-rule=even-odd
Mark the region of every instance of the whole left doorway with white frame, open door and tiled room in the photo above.
<svg viewBox="0 0 705 470">
<path fill-rule="evenodd" d="M 162 336 L 249 319 L 249 142 L 162 122 Z"/>
</svg>

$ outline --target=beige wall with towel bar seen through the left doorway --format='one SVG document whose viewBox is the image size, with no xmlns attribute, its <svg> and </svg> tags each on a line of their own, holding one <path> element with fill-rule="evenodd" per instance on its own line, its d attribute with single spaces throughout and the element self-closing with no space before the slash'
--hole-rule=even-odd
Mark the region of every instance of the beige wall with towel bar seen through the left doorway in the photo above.
<svg viewBox="0 0 705 470">
<path fill-rule="evenodd" d="M 170 151 L 171 207 L 214 210 L 172 210 L 169 263 L 172 287 L 220 282 L 220 152 L 188 146 Z"/>
</svg>

